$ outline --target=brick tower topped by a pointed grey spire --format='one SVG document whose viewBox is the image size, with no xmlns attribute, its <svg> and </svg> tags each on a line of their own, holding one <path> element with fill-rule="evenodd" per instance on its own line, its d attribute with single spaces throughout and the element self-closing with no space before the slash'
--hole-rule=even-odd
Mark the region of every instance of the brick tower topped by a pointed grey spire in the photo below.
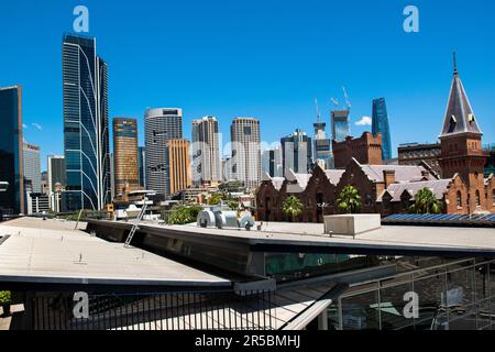
<svg viewBox="0 0 495 352">
<path fill-rule="evenodd" d="M 468 212 L 486 210 L 484 166 L 488 155 L 482 146 L 483 133 L 459 76 L 455 53 L 452 88 L 440 134 L 440 167 L 443 178 L 459 174 L 468 187 Z"/>
</svg>

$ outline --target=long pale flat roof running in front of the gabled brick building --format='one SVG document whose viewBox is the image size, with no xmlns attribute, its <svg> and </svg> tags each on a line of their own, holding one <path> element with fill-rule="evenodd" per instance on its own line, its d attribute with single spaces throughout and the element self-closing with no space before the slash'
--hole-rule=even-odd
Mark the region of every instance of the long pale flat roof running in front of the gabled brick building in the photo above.
<svg viewBox="0 0 495 352">
<path fill-rule="evenodd" d="M 250 240 L 255 243 L 285 242 L 298 245 L 391 248 L 406 250 L 452 250 L 466 252 L 495 252 L 495 229 L 490 228 L 441 228 L 394 227 L 349 235 L 324 234 L 322 223 L 264 223 L 262 231 L 200 229 L 196 224 L 167 227 L 174 230 L 223 235 Z"/>
</svg>

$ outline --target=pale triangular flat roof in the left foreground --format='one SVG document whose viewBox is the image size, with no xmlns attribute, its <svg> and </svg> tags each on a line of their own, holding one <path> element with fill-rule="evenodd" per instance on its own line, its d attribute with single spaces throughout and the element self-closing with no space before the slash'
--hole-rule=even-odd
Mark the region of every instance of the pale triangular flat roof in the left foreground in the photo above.
<svg viewBox="0 0 495 352">
<path fill-rule="evenodd" d="M 229 280 L 123 244 L 74 222 L 22 218 L 0 224 L 0 280 L 122 285 L 229 285 Z M 81 260 L 80 260 L 81 258 Z"/>
</svg>

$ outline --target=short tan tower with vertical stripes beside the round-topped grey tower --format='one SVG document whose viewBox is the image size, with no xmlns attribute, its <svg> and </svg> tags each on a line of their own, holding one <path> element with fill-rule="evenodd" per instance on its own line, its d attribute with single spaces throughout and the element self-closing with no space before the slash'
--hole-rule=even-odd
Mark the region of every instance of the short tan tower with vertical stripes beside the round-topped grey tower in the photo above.
<svg viewBox="0 0 495 352">
<path fill-rule="evenodd" d="M 186 140 L 170 140 L 167 142 L 166 151 L 169 169 L 167 195 L 175 195 L 193 185 L 190 143 Z"/>
</svg>

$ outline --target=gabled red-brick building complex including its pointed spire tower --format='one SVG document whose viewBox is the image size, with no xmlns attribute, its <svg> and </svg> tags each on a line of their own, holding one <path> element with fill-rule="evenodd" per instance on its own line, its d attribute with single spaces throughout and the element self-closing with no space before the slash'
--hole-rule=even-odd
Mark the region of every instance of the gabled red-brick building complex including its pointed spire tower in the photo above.
<svg viewBox="0 0 495 352">
<path fill-rule="evenodd" d="M 426 162 L 419 165 L 383 165 L 382 138 L 364 133 L 333 143 L 336 167 L 312 174 L 290 172 L 286 178 L 266 176 L 256 195 L 257 217 L 265 221 L 287 221 L 282 207 L 294 195 L 305 206 L 302 222 L 321 222 L 323 216 L 338 213 L 336 206 L 342 189 L 354 186 L 361 195 L 362 212 L 408 212 L 417 194 L 427 188 L 452 215 L 495 212 L 495 176 L 484 178 L 488 157 L 482 148 L 482 132 L 454 69 L 447 114 L 440 135 L 441 177 Z"/>
</svg>

